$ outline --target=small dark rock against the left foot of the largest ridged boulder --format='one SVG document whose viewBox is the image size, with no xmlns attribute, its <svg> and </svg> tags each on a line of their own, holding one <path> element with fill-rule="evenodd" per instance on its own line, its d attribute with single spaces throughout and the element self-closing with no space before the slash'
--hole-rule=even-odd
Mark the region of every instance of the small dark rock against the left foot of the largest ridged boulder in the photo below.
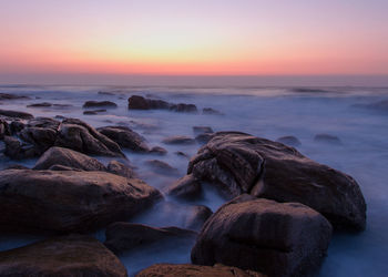
<svg viewBox="0 0 388 277">
<path fill-rule="evenodd" d="M 192 201 L 202 196 L 202 187 L 193 174 L 190 174 L 177 179 L 167 188 L 166 194 L 171 197 Z"/>
</svg>

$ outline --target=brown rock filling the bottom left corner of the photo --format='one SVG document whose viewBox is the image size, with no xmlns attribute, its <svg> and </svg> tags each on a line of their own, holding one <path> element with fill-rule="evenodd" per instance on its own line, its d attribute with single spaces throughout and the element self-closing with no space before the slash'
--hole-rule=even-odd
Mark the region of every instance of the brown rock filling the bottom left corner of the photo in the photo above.
<svg viewBox="0 0 388 277">
<path fill-rule="evenodd" d="M 0 252 L 0 265 L 1 276 L 126 276 L 125 267 L 106 247 L 80 235 Z"/>
</svg>

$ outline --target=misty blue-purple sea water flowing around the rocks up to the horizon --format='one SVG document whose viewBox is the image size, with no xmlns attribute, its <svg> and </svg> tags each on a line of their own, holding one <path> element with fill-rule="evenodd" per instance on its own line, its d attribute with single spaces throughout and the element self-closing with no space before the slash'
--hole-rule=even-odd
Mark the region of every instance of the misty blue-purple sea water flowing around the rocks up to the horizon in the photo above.
<svg viewBox="0 0 388 277">
<path fill-rule="evenodd" d="M 386 276 L 388 263 L 388 113 L 355 106 L 388 99 L 388 89 L 325 88 L 294 90 L 292 88 L 125 88 L 125 86 L 0 86 L 0 92 L 28 95 L 30 100 L 4 101 L 0 109 L 18 110 L 34 116 L 79 117 L 94 127 L 127 125 L 142 134 L 151 146 L 162 146 L 167 155 L 140 155 L 125 152 L 136 166 L 141 178 L 163 189 L 183 176 L 188 160 L 200 144 L 165 145 L 171 135 L 194 137 L 193 126 L 211 126 L 214 131 L 242 131 L 276 140 L 285 135 L 299 138 L 297 147 L 304 155 L 345 172 L 356 178 L 367 202 L 367 229 L 360 234 L 334 234 L 319 276 Z M 110 92 L 99 93 L 99 92 Z M 193 103 L 198 110 L 213 107 L 223 115 L 175 113 L 170 111 L 130 111 L 127 98 L 147 95 L 173 103 Z M 83 115 L 82 104 L 88 100 L 109 100 L 119 107 L 99 115 Z M 70 104 L 69 107 L 25 107 L 31 103 Z M 316 134 L 338 136 L 340 145 L 317 143 Z M 0 145 L 2 147 L 2 145 Z M 108 160 L 99 157 L 106 163 Z M 178 170 L 176 176 L 152 173 L 144 162 L 157 158 Z M 18 162 L 32 166 L 34 160 Z M 14 161 L 2 158 L 0 168 Z M 172 199 L 167 199 L 172 201 Z M 224 199 L 215 191 L 206 191 L 206 205 L 214 212 Z M 184 205 L 180 213 L 184 214 Z M 169 211 L 154 208 L 132 222 L 151 226 L 183 226 L 183 216 L 169 216 Z M 104 233 L 95 236 L 103 240 Z M 8 235 L 0 237 L 0 250 L 30 244 L 43 236 Z M 142 248 L 120 257 L 129 273 L 155 263 L 190 263 L 191 246 L 165 245 L 162 248 Z"/>
</svg>

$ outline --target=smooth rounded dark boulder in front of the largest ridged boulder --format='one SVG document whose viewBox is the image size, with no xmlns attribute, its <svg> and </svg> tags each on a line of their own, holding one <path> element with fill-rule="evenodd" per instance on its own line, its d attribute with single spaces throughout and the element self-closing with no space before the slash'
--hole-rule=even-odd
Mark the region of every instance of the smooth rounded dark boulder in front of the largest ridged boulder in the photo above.
<svg viewBox="0 0 388 277">
<path fill-rule="evenodd" d="M 303 204 L 242 195 L 205 223 L 192 261 L 222 263 L 268 276 L 309 276 L 325 257 L 330 238 L 326 218 Z"/>
</svg>

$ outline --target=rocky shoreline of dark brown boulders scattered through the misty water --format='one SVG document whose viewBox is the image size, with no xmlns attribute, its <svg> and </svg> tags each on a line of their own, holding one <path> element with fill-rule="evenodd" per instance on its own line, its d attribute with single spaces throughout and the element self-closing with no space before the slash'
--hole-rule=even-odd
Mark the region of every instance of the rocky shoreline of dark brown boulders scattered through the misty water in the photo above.
<svg viewBox="0 0 388 277">
<path fill-rule="evenodd" d="M 104 106 L 116 104 L 84 105 Z M 129 99 L 129 109 L 198 113 L 193 104 L 137 95 Z M 79 119 L 9 110 L 0 116 L 3 155 L 16 162 L 38 158 L 31 168 L 0 171 L 1 230 L 52 237 L 1 252 L 1 276 L 126 276 L 121 255 L 167 243 L 188 245 L 193 265 L 154 265 L 139 276 L 228 276 L 231 270 L 233 276 L 309 276 L 325 258 L 333 232 L 366 228 L 366 203 L 357 182 L 300 154 L 293 147 L 299 144 L 296 137 L 274 142 L 193 126 L 196 140 L 162 141 L 183 148 L 202 145 L 185 176 L 176 176 L 163 161 L 147 162 L 154 173 L 176 176 L 159 191 L 137 178 L 123 150 L 142 155 L 166 150 L 150 145 L 127 126 L 94 129 Z M 339 144 L 324 134 L 316 140 Z M 204 197 L 205 187 L 224 196 L 225 204 L 214 213 L 192 203 Z M 185 228 L 131 223 L 156 209 L 177 216 L 180 205 L 190 207 Z M 104 244 L 90 236 L 101 228 Z"/>
</svg>

